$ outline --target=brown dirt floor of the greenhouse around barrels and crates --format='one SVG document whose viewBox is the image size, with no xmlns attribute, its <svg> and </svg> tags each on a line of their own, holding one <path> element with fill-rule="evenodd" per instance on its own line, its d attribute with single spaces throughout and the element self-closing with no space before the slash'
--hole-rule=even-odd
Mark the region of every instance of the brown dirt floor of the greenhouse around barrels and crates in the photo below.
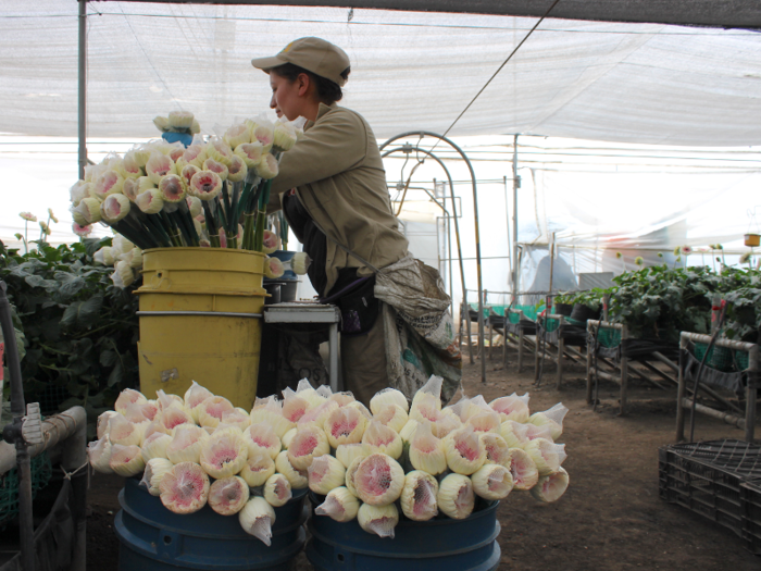
<svg viewBox="0 0 761 571">
<path fill-rule="evenodd" d="M 635 386 L 626 417 L 617 415 L 617 385 L 600 385 L 596 412 L 585 401 L 584 371 L 566 370 L 561 390 L 554 388 L 553 365 L 547 365 L 540 388 L 534 372 L 516 374 L 487 360 L 487 382 L 481 363 L 466 364 L 467 396 L 486 400 L 513 392 L 531 394 L 533 411 L 562 401 L 570 408 L 561 442 L 571 479 L 556 504 L 538 504 L 528 493 L 512 493 L 501 502 L 500 570 L 629 570 L 761 568 L 761 557 L 744 548 L 733 532 L 690 511 L 666 504 L 658 495 L 658 448 L 673 443 L 675 394 Z M 533 364 L 533 363 L 532 363 Z M 552 376 L 552 378 L 550 378 Z M 743 432 L 720 421 L 698 417 L 696 440 L 743 438 Z M 92 479 L 88 520 L 87 568 L 117 568 L 118 542 L 113 519 L 122 487 L 116 476 Z M 312 567 L 301 554 L 297 571 Z"/>
</svg>

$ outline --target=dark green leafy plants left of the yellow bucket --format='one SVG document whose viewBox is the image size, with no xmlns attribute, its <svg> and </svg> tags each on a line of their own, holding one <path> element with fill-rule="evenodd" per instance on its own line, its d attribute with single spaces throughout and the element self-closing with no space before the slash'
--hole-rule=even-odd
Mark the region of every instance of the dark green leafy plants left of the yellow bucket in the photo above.
<svg viewBox="0 0 761 571">
<path fill-rule="evenodd" d="M 139 384 L 137 285 L 115 287 L 113 268 L 92 260 L 110 244 L 39 243 L 38 251 L 20 256 L 0 241 L 0 280 L 23 335 L 24 395 L 43 413 L 82 405 L 93 417 L 113 408 L 120 390 Z"/>
</svg>

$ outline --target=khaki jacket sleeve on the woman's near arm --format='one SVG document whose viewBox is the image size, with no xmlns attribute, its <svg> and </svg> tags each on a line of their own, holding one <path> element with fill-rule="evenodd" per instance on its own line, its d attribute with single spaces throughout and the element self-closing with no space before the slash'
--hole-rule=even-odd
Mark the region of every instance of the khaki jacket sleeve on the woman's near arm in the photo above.
<svg viewBox="0 0 761 571">
<path fill-rule="evenodd" d="M 362 121 L 350 111 L 325 114 L 280 159 L 272 193 L 342 173 L 364 159 L 367 137 Z"/>
</svg>

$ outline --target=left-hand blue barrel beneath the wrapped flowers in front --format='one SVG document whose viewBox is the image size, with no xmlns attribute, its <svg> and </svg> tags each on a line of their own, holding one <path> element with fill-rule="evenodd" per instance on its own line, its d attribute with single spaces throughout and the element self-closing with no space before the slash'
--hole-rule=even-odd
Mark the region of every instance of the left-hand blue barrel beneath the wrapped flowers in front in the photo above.
<svg viewBox="0 0 761 571">
<path fill-rule="evenodd" d="M 288 571 L 305 541 L 307 489 L 275 508 L 272 545 L 247 534 L 237 516 L 220 516 L 209 506 L 180 516 L 128 477 L 118 494 L 122 509 L 114 527 L 120 538 L 120 571 L 272 570 Z"/>
</svg>

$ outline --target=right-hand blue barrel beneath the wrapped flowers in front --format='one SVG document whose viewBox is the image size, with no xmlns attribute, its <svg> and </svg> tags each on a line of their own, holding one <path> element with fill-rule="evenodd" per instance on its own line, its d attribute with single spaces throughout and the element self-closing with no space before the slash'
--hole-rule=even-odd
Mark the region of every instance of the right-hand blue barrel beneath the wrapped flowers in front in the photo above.
<svg viewBox="0 0 761 571">
<path fill-rule="evenodd" d="M 320 504 L 312 497 L 313 506 Z M 491 571 L 502 555 L 498 506 L 486 502 L 464 520 L 425 522 L 408 520 L 400 510 L 394 539 L 363 531 L 357 520 L 340 523 L 312 513 L 307 558 L 317 571 Z"/>
</svg>

